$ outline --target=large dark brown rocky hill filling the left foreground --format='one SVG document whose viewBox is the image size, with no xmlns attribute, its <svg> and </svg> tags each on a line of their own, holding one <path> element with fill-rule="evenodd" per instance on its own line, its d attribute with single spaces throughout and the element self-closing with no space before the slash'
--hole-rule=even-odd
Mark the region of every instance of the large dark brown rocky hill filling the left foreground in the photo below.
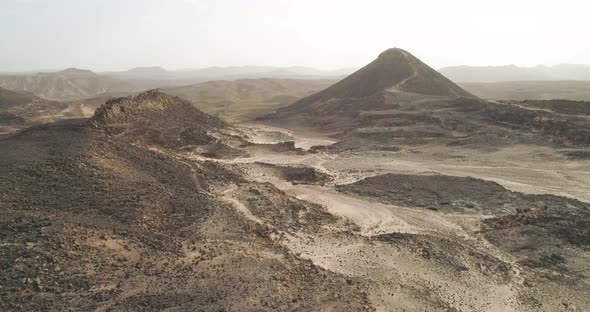
<svg viewBox="0 0 590 312">
<path fill-rule="evenodd" d="M 345 277 L 273 241 L 307 204 L 270 190 L 256 215 L 294 219 L 257 223 L 222 197 L 244 176 L 178 153 L 224 127 L 151 91 L 2 139 L 1 309 L 370 310 Z"/>
</svg>

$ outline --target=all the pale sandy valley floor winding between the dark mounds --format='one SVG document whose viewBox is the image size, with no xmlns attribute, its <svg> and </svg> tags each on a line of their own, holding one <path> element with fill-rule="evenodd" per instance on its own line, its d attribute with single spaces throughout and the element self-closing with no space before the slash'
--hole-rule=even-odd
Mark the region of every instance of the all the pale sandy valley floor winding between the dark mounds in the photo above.
<svg viewBox="0 0 590 312">
<path fill-rule="evenodd" d="M 327 137 L 308 137 L 292 131 L 246 125 L 242 131 L 256 143 L 285 140 L 309 148 L 334 142 Z M 549 193 L 590 201 L 590 162 L 564 161 L 554 150 L 514 146 L 494 153 L 422 146 L 414 151 L 363 152 L 346 154 L 281 154 L 252 150 L 250 157 L 231 162 L 303 164 L 335 177 L 333 184 L 351 183 L 383 173 L 447 174 L 493 180 L 524 193 Z M 295 253 L 328 270 L 358 278 L 370 285 L 370 299 L 379 311 L 534 311 L 519 302 L 523 278 L 511 255 L 488 243 L 477 231 L 483 216 L 434 212 L 385 205 L 337 192 L 333 185 L 293 185 L 277 177 L 248 172 L 261 182 L 273 183 L 287 194 L 323 205 L 337 216 L 360 227 L 358 235 L 343 237 L 337 231 L 309 237 L 287 235 L 282 242 Z M 257 222 L 248 209 L 231 197 L 224 198 Z M 333 230 L 333 229 L 332 229 Z M 426 259 L 406 248 L 375 241 L 370 237 L 385 233 L 424 234 L 448 240 L 458 248 L 455 257 L 466 271 Z M 508 266 L 507 272 L 489 273 L 482 254 Z M 552 299 L 554 300 L 554 299 Z M 544 311 L 558 311 L 560 303 L 548 303 Z M 583 311 L 583 310 L 582 310 Z"/>
</svg>

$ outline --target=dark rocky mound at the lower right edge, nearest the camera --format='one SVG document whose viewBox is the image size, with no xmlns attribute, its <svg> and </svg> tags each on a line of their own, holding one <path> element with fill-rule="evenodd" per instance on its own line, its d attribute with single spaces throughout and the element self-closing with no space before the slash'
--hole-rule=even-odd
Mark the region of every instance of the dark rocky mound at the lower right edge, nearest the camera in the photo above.
<svg viewBox="0 0 590 312">
<path fill-rule="evenodd" d="M 540 207 L 531 205 L 517 213 L 485 220 L 483 233 L 524 268 L 524 283 L 530 292 L 523 301 L 536 309 L 547 309 L 539 298 L 544 296 L 554 302 L 561 300 L 561 306 L 552 309 L 579 309 L 573 302 L 586 297 L 589 290 L 590 208 L 579 201 L 559 202 L 554 197 L 549 201 L 547 196 L 535 199 Z M 564 287 L 568 294 L 555 291 Z"/>
</svg>

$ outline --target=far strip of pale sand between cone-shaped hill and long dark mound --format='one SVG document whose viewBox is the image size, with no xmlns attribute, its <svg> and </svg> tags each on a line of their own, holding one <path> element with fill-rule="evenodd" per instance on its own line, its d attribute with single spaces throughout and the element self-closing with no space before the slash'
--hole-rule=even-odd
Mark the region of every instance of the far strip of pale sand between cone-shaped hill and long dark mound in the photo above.
<svg viewBox="0 0 590 312">
<path fill-rule="evenodd" d="M 285 141 L 276 139 L 276 133 L 280 132 L 285 134 L 283 138 L 295 141 L 295 146 L 304 149 L 335 142 L 329 137 L 295 135 L 293 131 L 276 127 L 249 124 L 246 129 L 254 131 L 253 141 L 256 143 Z M 265 132 L 271 135 L 265 137 Z M 336 184 L 384 173 L 471 176 L 495 181 L 513 191 L 555 194 L 590 202 L 590 161 L 568 160 L 554 149 L 540 146 L 515 145 L 491 153 L 439 145 L 425 145 L 414 151 L 363 151 L 339 155 L 265 152 L 241 161 L 305 164 L 336 175 Z"/>
</svg>

